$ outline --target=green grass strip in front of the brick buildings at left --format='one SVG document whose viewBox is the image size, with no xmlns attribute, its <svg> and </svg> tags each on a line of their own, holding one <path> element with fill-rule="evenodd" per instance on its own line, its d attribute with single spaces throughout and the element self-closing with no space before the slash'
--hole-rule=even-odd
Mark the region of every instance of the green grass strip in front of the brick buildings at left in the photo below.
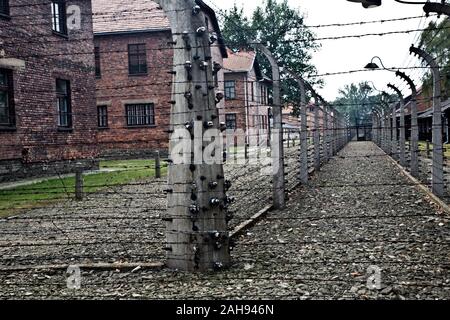
<svg viewBox="0 0 450 320">
<path fill-rule="evenodd" d="M 166 175 L 167 166 L 162 166 L 161 173 Z M 102 161 L 100 167 L 120 171 L 85 175 L 85 193 L 95 193 L 155 176 L 153 160 Z M 72 200 L 74 194 L 75 177 L 49 179 L 28 186 L 0 190 L 0 217 L 43 207 L 63 199 Z"/>
</svg>

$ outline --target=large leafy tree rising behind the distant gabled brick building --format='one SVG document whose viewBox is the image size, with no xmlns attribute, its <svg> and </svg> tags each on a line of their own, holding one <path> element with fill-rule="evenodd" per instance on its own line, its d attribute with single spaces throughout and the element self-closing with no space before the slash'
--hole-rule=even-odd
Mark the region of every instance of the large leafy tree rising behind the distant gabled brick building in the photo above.
<svg viewBox="0 0 450 320">
<path fill-rule="evenodd" d="M 320 45 L 314 40 L 314 33 L 304 25 L 302 13 L 290 8 L 287 0 L 266 0 L 262 7 L 255 9 L 251 19 L 235 4 L 225 13 L 222 29 L 225 42 L 232 50 L 252 50 L 252 41 L 262 42 L 281 66 L 310 83 L 322 85 L 321 80 L 309 78 L 317 71 L 311 59 Z M 268 61 L 262 57 L 259 61 L 263 72 L 270 75 Z M 281 88 L 286 101 L 298 102 L 300 93 L 295 81 L 282 76 Z"/>
</svg>

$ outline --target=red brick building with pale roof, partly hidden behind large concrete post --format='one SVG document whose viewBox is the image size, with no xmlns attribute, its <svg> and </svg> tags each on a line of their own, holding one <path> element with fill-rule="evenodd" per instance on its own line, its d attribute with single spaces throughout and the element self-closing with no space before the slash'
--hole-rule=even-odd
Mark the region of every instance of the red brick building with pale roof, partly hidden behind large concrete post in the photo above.
<svg viewBox="0 0 450 320">
<path fill-rule="evenodd" d="M 197 1 L 210 33 L 212 62 L 227 52 L 214 11 Z M 94 0 L 98 142 L 103 156 L 141 157 L 168 149 L 173 51 L 170 24 L 150 0 Z M 223 70 L 215 78 L 223 91 Z M 223 102 L 218 105 L 223 109 Z M 221 119 L 225 121 L 225 119 Z"/>
</svg>

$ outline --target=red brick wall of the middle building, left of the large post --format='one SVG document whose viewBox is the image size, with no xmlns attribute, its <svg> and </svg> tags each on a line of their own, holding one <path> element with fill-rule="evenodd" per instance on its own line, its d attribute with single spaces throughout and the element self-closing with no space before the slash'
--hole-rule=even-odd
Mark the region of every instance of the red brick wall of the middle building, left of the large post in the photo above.
<svg viewBox="0 0 450 320">
<path fill-rule="evenodd" d="M 101 79 L 97 79 L 97 104 L 108 105 L 109 128 L 97 137 L 102 153 L 111 150 L 165 150 L 168 148 L 173 53 L 169 50 L 170 32 L 95 36 L 100 50 Z M 148 74 L 130 76 L 128 44 L 145 43 Z M 163 48 L 162 50 L 159 50 Z M 127 127 L 125 104 L 152 102 L 153 127 Z"/>
</svg>

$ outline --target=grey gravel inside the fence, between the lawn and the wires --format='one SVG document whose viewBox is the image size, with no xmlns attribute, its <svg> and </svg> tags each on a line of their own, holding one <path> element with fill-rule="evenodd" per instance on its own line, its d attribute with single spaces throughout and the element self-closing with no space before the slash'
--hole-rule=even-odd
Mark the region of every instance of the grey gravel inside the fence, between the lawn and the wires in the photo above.
<svg viewBox="0 0 450 320">
<path fill-rule="evenodd" d="M 261 174 L 256 157 L 229 161 L 225 175 L 239 200 L 232 230 L 271 203 L 272 177 Z M 0 219 L 0 266 L 163 261 L 166 189 L 165 179 L 139 181 Z"/>
</svg>

